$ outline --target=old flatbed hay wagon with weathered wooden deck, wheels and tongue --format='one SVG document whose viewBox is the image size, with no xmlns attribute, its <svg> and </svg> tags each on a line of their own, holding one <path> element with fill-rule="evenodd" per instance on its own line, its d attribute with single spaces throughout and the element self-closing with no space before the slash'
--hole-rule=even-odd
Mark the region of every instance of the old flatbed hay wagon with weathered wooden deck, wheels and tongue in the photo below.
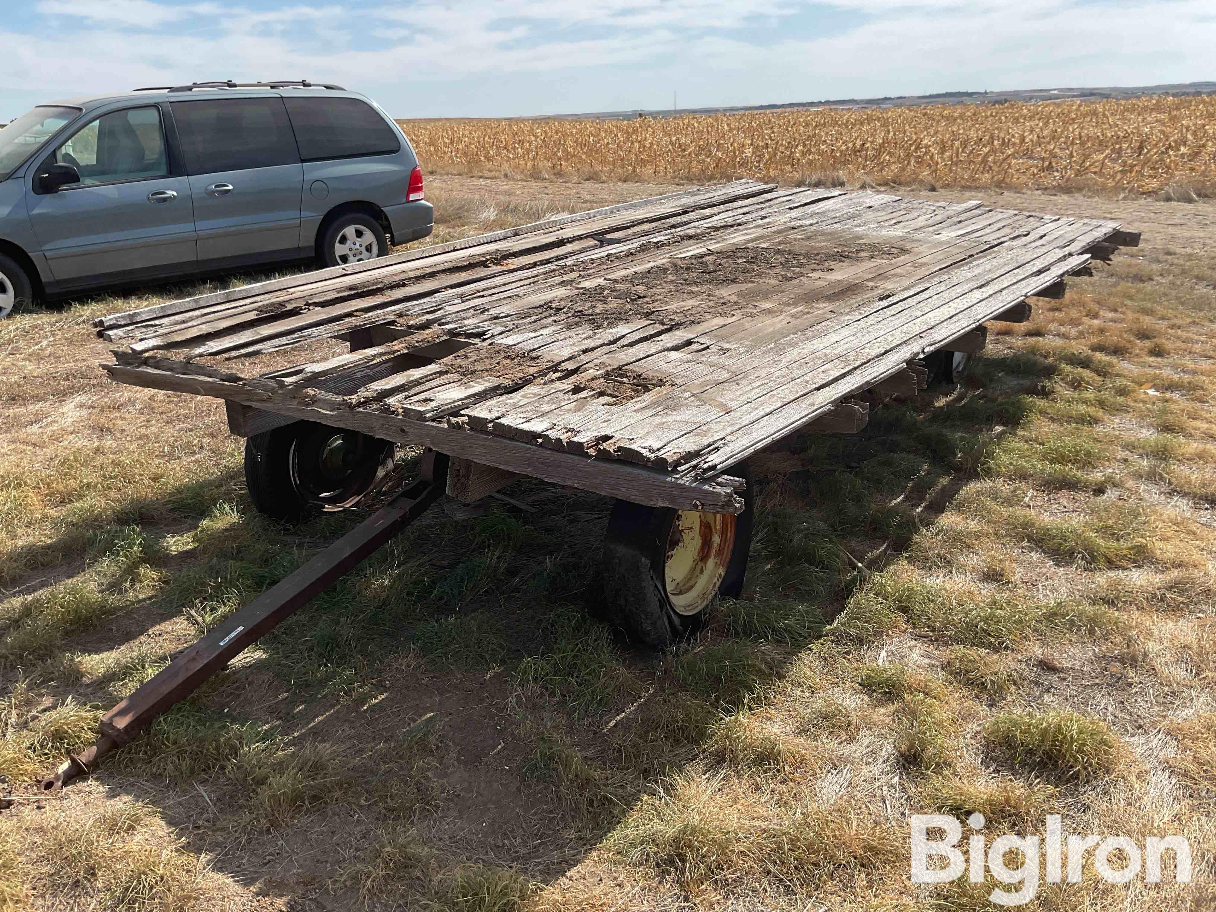
<svg viewBox="0 0 1216 912">
<path fill-rule="evenodd" d="M 747 458 L 957 382 L 1139 236 L 979 202 L 736 181 L 101 317 L 114 381 L 224 399 L 254 505 L 350 508 L 395 444 L 421 478 L 107 713 L 58 788 L 445 492 L 520 477 L 617 499 L 601 610 L 663 647 L 738 596 Z"/>
</svg>

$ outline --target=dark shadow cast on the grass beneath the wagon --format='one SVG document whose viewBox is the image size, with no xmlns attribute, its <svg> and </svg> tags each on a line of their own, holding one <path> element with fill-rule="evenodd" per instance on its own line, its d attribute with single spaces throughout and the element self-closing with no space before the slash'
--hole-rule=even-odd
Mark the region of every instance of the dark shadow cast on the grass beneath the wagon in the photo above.
<svg viewBox="0 0 1216 912">
<path fill-rule="evenodd" d="M 630 648 L 582 610 L 607 499 L 520 482 L 508 492 L 528 510 L 495 503 L 460 522 L 433 510 L 163 716 L 116 758 L 123 775 L 102 776 L 188 822 L 198 851 L 215 854 L 233 826 L 288 841 L 292 827 L 336 827 L 375 854 L 405 828 L 446 846 L 445 865 L 551 882 L 658 777 L 698 758 L 724 715 L 762 702 L 851 592 L 987 469 L 1051 372 L 1028 355 L 983 359 L 953 394 L 931 389 L 856 435 L 798 437 L 756 458 L 745 597 L 668 655 Z M 193 610 L 207 629 L 358 522 L 275 530 L 207 503 L 231 483 L 170 499 L 197 502 L 202 520 L 156 617 Z M 157 782 L 181 794 L 203 783 L 206 804 Z M 371 865 L 365 855 L 304 852 L 300 868 L 355 889 L 342 871 Z M 214 863 L 248 873 L 238 856 Z"/>
</svg>

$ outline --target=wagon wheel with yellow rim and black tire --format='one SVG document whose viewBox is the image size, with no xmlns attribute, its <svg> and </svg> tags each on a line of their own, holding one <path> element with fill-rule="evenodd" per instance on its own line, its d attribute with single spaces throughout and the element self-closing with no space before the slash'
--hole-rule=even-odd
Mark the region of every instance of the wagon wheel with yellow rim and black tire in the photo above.
<svg viewBox="0 0 1216 912">
<path fill-rule="evenodd" d="M 739 516 L 617 501 L 601 552 L 593 603 L 599 618 L 637 642 L 666 648 L 700 630 L 717 595 L 742 595 L 751 473 L 741 463 L 727 474 L 748 482 Z"/>
</svg>

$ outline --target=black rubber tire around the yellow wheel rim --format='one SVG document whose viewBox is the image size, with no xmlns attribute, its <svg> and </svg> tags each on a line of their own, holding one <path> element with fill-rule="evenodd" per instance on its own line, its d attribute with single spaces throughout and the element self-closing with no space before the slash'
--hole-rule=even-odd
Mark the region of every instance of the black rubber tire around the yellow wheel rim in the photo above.
<svg viewBox="0 0 1216 912">
<path fill-rule="evenodd" d="M 736 466 L 728 474 L 747 478 L 748 489 L 743 496 L 743 513 L 733 518 L 730 558 L 716 584 L 716 595 L 737 598 L 743 590 L 751 547 L 754 495 L 747 463 Z M 710 597 L 696 613 L 681 613 L 668 591 L 666 559 L 679 512 L 617 501 L 604 534 L 599 580 L 592 599 L 597 618 L 621 629 L 630 640 L 657 649 L 669 648 L 697 634 L 714 603 Z"/>
</svg>

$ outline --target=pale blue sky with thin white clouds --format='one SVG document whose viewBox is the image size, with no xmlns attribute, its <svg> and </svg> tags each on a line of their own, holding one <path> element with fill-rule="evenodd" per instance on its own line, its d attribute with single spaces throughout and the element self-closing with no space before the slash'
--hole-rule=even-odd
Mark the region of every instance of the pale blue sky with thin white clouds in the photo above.
<svg viewBox="0 0 1216 912">
<path fill-rule="evenodd" d="M 1214 0 L 23 0 L 0 118 L 313 79 L 394 117 L 513 117 L 1216 80 Z"/>
</svg>

